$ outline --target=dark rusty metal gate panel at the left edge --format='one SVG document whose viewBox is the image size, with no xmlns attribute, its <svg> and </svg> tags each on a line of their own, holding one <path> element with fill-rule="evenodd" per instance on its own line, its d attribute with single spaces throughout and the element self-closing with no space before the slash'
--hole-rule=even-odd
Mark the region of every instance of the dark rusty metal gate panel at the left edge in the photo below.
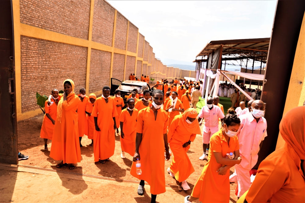
<svg viewBox="0 0 305 203">
<path fill-rule="evenodd" d="M 0 30 L 0 162 L 18 164 L 11 1 L 0 1 Z"/>
</svg>

